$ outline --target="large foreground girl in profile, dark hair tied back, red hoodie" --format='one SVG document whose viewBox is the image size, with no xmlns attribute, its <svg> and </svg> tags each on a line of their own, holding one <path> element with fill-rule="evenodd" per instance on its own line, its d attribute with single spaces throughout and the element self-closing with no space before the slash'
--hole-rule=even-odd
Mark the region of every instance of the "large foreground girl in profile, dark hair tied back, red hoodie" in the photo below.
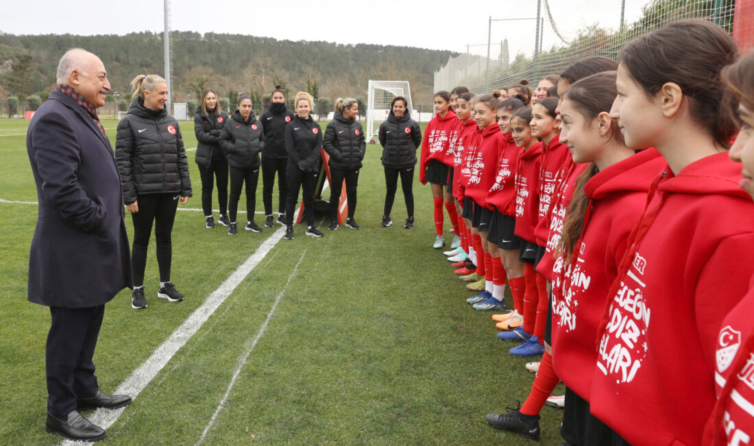
<svg viewBox="0 0 754 446">
<path fill-rule="evenodd" d="M 628 147 L 653 146 L 667 162 L 597 330 L 590 411 L 632 444 L 703 437 L 716 356 L 730 340 L 720 327 L 754 270 L 754 206 L 726 153 L 738 123 L 720 72 L 737 56 L 731 36 L 706 20 L 670 23 L 621 51 L 611 117 Z M 637 401 L 651 404 L 637 411 Z"/>
</svg>

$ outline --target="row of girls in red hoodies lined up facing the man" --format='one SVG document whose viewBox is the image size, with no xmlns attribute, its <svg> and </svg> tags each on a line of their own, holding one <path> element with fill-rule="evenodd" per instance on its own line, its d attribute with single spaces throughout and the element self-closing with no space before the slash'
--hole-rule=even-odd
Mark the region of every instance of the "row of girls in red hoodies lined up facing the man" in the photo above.
<svg viewBox="0 0 754 446">
<path fill-rule="evenodd" d="M 553 377 L 566 383 L 562 435 L 568 444 L 752 444 L 754 193 L 745 191 L 754 192 L 754 147 L 747 140 L 754 124 L 754 62 L 749 56 L 723 71 L 736 60 L 736 45 L 718 26 L 680 21 L 627 44 L 617 72 L 559 83 L 562 132 L 556 138 L 547 141 L 549 135 L 541 134 L 537 109 L 544 104 L 535 106 L 528 125 L 541 143 L 527 143 L 520 134 L 525 131 L 516 137 L 532 111 L 512 113 L 510 138 L 526 148 L 517 159 L 513 187 L 519 260 L 528 260 L 525 253 L 533 249 L 542 257 L 535 274 L 553 288 L 546 306 L 552 315 L 544 318 L 552 326 L 552 349 L 543 356 L 530 398 L 549 394 Z M 721 72 L 739 94 L 740 106 Z M 505 116 L 513 109 L 500 105 L 489 95 L 478 97 L 474 119 L 481 133 L 461 141 L 466 184 L 489 185 L 489 191 L 501 181 L 502 189 L 510 187 L 510 174 L 504 173 L 510 160 L 499 158 L 507 143 L 499 129 L 505 126 L 498 122 L 496 131 L 485 118 L 488 110 Z M 736 109 L 743 131 L 728 154 L 740 128 L 732 118 Z M 477 179 L 492 159 L 485 153 L 490 138 L 498 142 L 491 184 Z M 529 184 L 536 177 L 530 172 L 537 171 L 531 159 L 540 160 L 541 172 L 555 140 L 569 153 L 553 171 L 554 190 L 544 209 L 542 188 Z M 743 161 L 743 181 L 740 165 L 728 155 Z M 498 231 L 494 223 L 483 225 L 484 218 L 495 221 L 486 215 L 485 199 L 479 202 L 480 195 L 467 192 L 463 215 L 477 234 L 466 252 L 476 251 L 477 268 L 492 265 L 497 277 L 496 263 L 486 258 L 495 258 L 492 244 L 506 252 L 501 245 L 508 240 L 510 220 L 504 217 L 511 217 L 510 202 L 492 205 L 503 217 Z M 532 197 L 537 205 L 528 201 Z M 518 217 L 532 217 L 534 210 L 536 224 L 520 228 L 526 220 Z M 538 237 L 543 221 L 547 235 Z M 501 242 L 490 240 L 491 232 L 501 233 Z M 474 235 L 482 234 L 486 243 L 474 248 Z M 531 271 L 524 269 L 529 291 Z M 504 270 L 514 306 L 523 312 L 523 331 L 537 334 L 540 313 L 527 311 L 526 291 L 519 303 L 514 268 L 506 261 Z M 541 280 L 533 283 L 541 290 Z M 493 279 L 486 291 L 499 297 L 495 285 Z M 535 438 L 538 409 L 532 413 L 527 406 L 536 404 L 529 402 L 487 420 Z"/>
</svg>

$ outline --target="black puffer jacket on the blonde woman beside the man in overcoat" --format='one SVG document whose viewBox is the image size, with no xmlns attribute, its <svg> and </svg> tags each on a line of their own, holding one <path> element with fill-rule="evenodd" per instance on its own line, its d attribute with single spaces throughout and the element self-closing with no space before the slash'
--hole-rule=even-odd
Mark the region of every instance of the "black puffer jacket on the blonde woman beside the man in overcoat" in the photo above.
<svg viewBox="0 0 754 446">
<path fill-rule="evenodd" d="M 136 195 L 179 193 L 192 196 L 189 161 L 178 121 L 166 109 L 151 110 L 136 97 L 118 123 L 115 162 L 121 174 L 123 201 Z"/>
</svg>

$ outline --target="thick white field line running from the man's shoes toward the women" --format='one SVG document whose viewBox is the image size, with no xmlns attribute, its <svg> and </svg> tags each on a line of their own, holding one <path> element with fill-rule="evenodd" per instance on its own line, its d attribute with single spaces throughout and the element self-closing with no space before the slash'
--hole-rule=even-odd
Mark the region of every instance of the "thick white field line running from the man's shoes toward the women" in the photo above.
<svg viewBox="0 0 754 446">
<path fill-rule="evenodd" d="M 181 349 L 185 343 L 191 339 L 199 328 L 204 325 L 204 322 L 210 318 L 215 310 L 225 302 L 225 299 L 230 296 L 233 290 L 246 278 L 247 275 L 261 262 L 265 256 L 271 251 L 274 245 L 283 238 L 285 228 L 280 227 L 262 245 L 259 246 L 254 254 L 252 254 L 247 260 L 236 269 L 231 276 L 225 280 L 222 285 L 219 286 L 198 309 L 195 309 L 191 315 L 173 331 L 173 334 L 162 343 L 152 355 L 144 361 L 143 364 L 136 368 L 126 380 L 115 389 L 114 394 L 118 395 L 130 395 L 131 398 L 136 399 L 139 393 L 155 378 L 159 371 L 164 368 L 168 361 L 173 358 L 173 355 Z M 112 426 L 118 420 L 118 417 L 123 414 L 125 408 L 109 410 L 109 409 L 97 409 L 90 417 L 89 420 L 102 427 L 103 429 Z M 80 441 L 62 441 L 62 445 L 73 444 L 85 444 Z"/>
</svg>

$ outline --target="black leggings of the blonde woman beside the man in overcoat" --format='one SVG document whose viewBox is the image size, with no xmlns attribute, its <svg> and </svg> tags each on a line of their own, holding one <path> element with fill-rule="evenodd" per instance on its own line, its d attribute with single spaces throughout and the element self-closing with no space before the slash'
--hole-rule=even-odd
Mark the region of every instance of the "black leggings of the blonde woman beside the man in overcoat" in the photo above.
<svg viewBox="0 0 754 446">
<path fill-rule="evenodd" d="M 131 214 L 133 220 L 133 249 L 131 250 L 131 269 L 133 269 L 133 286 L 144 285 L 146 269 L 146 250 L 152 235 L 152 222 L 155 223 L 155 240 L 157 241 L 157 265 L 160 269 L 160 281 L 170 281 L 170 262 L 173 257 L 173 222 L 180 194 L 137 195 L 139 212 Z"/>
</svg>

